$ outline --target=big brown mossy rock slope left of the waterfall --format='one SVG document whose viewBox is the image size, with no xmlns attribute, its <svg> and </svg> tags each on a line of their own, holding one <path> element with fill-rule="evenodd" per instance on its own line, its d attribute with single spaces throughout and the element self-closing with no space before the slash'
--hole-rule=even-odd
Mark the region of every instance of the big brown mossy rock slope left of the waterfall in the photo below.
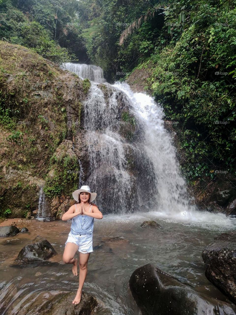
<svg viewBox="0 0 236 315">
<path fill-rule="evenodd" d="M 32 214 L 40 186 L 48 201 L 63 196 L 61 203 L 76 189 L 79 164 L 72 142 L 82 131 L 86 92 L 71 72 L 0 41 L 0 216 Z"/>
</svg>

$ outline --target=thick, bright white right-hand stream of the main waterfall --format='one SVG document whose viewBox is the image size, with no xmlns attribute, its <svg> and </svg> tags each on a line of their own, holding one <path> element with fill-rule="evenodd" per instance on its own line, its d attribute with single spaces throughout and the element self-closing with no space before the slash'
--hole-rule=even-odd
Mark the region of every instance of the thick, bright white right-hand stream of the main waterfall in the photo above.
<svg viewBox="0 0 236 315">
<path fill-rule="evenodd" d="M 115 83 L 114 87 L 126 94 L 132 112 L 145 126 L 144 139 L 139 142 L 148 159 L 154 166 L 155 182 L 152 194 L 156 195 L 158 210 L 164 213 L 183 213 L 188 215 L 190 201 L 186 183 L 180 174 L 175 147 L 164 128 L 162 106 L 144 93 L 133 93 L 127 83 Z"/>
</svg>

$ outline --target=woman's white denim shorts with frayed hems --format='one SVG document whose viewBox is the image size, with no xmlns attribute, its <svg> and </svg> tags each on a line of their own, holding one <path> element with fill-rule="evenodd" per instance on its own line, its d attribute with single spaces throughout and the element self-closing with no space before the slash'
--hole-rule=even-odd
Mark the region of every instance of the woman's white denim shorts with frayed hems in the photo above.
<svg viewBox="0 0 236 315">
<path fill-rule="evenodd" d="M 78 251 L 81 253 L 87 254 L 93 252 L 93 233 L 74 235 L 70 232 L 67 241 L 65 242 L 65 245 L 68 242 L 78 245 Z"/>
</svg>

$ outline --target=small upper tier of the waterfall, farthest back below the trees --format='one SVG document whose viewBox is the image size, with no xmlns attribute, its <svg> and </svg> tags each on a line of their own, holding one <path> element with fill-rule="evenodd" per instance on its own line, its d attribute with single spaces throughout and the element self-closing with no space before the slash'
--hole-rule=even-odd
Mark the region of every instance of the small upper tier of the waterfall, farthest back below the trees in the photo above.
<svg viewBox="0 0 236 315">
<path fill-rule="evenodd" d="M 103 77 L 103 69 L 98 66 L 65 62 L 62 64 L 62 68 L 76 73 L 83 79 L 88 78 L 89 80 L 98 83 L 106 81 Z"/>
</svg>

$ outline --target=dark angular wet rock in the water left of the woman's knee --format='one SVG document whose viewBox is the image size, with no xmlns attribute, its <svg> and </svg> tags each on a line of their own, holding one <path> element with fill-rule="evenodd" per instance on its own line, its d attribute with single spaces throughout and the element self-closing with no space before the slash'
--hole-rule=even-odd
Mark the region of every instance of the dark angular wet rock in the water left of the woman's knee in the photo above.
<svg viewBox="0 0 236 315">
<path fill-rule="evenodd" d="M 15 261 L 24 263 L 45 261 L 55 254 L 56 251 L 52 245 L 38 235 L 21 249 Z"/>
</svg>

